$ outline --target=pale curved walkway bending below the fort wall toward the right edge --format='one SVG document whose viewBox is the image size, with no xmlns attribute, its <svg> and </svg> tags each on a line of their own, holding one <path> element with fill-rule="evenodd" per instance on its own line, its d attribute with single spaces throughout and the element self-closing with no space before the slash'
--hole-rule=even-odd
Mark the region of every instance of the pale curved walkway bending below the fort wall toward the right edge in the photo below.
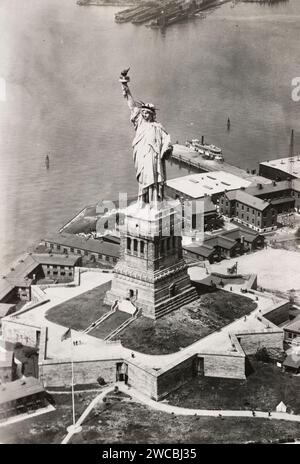
<svg viewBox="0 0 300 464">
<path fill-rule="evenodd" d="M 99 402 L 103 401 L 104 396 L 112 391 L 112 389 L 117 386 L 120 391 L 127 393 L 132 398 L 137 400 L 139 403 L 145 404 L 152 409 L 157 411 L 165 412 L 168 414 L 176 414 L 178 416 L 210 416 L 210 417 L 250 417 L 252 419 L 269 419 L 269 420 L 285 420 L 291 422 L 299 422 L 300 423 L 300 415 L 292 415 L 283 412 L 272 412 L 271 417 L 269 417 L 267 412 L 262 411 L 255 411 L 255 416 L 252 415 L 252 411 L 248 410 L 223 410 L 223 409 L 189 409 L 189 408 L 181 408 L 179 406 L 172 406 L 170 404 L 154 401 L 147 396 L 143 395 L 135 388 L 128 387 L 123 383 L 116 382 L 115 384 L 106 387 L 102 392 L 94 398 L 83 414 L 80 416 L 78 421 L 76 422 L 76 427 L 82 425 L 83 421 L 92 411 L 94 406 Z M 68 432 L 65 436 L 61 444 L 65 445 L 69 442 L 72 438 L 74 432 Z"/>
</svg>

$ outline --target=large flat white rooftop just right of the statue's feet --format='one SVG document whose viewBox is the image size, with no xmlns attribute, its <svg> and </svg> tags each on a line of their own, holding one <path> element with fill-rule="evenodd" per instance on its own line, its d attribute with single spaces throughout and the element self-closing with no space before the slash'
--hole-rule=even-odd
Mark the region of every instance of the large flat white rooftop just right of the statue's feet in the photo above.
<svg viewBox="0 0 300 464">
<path fill-rule="evenodd" d="M 251 182 L 225 171 L 191 174 L 167 181 L 168 187 L 191 198 L 202 198 L 205 195 L 214 195 L 225 190 L 237 190 L 250 185 Z"/>
</svg>

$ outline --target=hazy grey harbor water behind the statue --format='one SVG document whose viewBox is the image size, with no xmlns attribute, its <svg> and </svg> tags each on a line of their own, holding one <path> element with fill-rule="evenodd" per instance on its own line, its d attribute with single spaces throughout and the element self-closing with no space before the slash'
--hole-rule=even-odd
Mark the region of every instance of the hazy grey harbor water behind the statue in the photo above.
<svg viewBox="0 0 300 464">
<path fill-rule="evenodd" d="M 253 169 L 288 155 L 294 128 L 300 151 L 299 0 L 228 3 L 165 33 L 116 24 L 119 9 L 0 3 L 1 267 L 84 205 L 137 191 L 118 82 L 129 65 L 134 96 L 158 106 L 174 142 L 204 135 Z M 185 172 L 168 166 L 169 177 Z"/>
</svg>

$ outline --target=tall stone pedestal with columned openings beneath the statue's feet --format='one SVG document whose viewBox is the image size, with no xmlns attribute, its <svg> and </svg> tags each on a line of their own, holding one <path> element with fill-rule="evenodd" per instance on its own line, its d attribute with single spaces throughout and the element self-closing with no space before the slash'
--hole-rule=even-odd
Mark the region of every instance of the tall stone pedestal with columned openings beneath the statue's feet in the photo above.
<svg viewBox="0 0 300 464">
<path fill-rule="evenodd" d="M 182 257 L 180 202 L 135 203 L 121 227 L 121 257 L 105 302 L 130 299 L 157 319 L 196 299 Z"/>
</svg>

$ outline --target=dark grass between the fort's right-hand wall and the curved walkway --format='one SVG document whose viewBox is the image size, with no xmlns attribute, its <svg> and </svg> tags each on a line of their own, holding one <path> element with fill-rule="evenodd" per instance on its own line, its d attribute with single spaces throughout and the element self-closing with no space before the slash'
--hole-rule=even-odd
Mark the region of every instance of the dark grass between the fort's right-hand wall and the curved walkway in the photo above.
<svg viewBox="0 0 300 464">
<path fill-rule="evenodd" d="M 283 401 L 300 414 L 300 377 L 273 364 L 251 359 L 247 380 L 195 377 L 168 395 L 169 404 L 199 409 L 257 409 L 274 411 Z"/>
</svg>

